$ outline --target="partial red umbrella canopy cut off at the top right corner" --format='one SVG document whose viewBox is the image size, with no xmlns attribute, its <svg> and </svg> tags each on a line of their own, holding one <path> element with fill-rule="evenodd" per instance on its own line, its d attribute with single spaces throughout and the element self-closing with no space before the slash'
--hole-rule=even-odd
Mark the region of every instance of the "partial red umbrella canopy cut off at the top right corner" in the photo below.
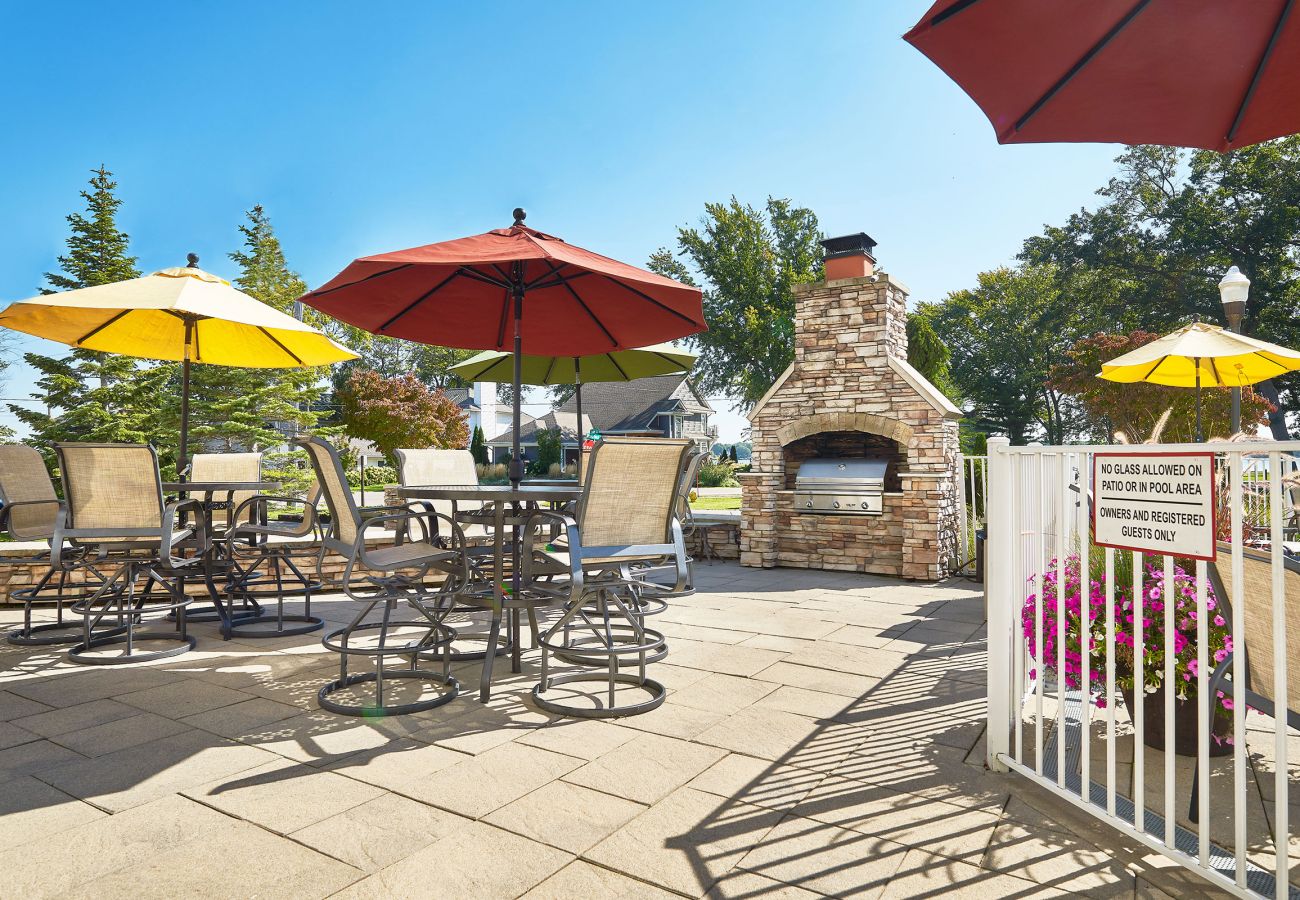
<svg viewBox="0 0 1300 900">
<path fill-rule="evenodd" d="M 1228 151 L 1300 131 L 1295 0 L 939 0 L 905 35 L 1000 143 Z"/>
</svg>

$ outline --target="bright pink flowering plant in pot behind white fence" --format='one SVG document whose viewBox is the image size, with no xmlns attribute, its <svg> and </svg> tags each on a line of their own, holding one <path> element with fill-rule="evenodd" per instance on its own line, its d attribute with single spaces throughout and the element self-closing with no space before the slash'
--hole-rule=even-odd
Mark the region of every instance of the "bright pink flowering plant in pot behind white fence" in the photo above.
<svg viewBox="0 0 1300 900">
<path fill-rule="evenodd" d="M 1122 558 L 1123 557 L 1123 558 Z M 1037 594 L 1032 593 L 1034 580 L 1030 581 L 1031 593 L 1024 600 L 1020 610 L 1020 624 L 1028 644 L 1030 654 L 1039 661 L 1046 671 L 1056 672 L 1060 665 L 1060 646 L 1065 644 L 1065 672 L 1063 679 L 1067 688 L 1079 689 L 1083 687 L 1083 641 L 1088 644 L 1088 680 L 1092 701 L 1097 706 L 1105 706 L 1106 685 L 1106 592 L 1105 572 L 1101 570 L 1100 558 L 1092 559 L 1089 564 L 1091 584 L 1088 590 L 1087 627 L 1083 626 L 1083 589 L 1078 555 L 1065 559 L 1063 580 L 1057 583 L 1057 561 L 1048 563 L 1043 574 L 1043 653 L 1037 646 Z M 1124 570 L 1128 572 L 1124 572 Z M 1134 603 L 1132 597 L 1132 557 L 1127 553 L 1115 554 L 1115 589 L 1114 589 L 1114 623 L 1115 623 L 1115 687 L 1122 692 L 1134 691 L 1135 668 L 1134 641 L 1138 615 L 1141 615 L 1143 628 L 1143 683 L 1144 693 L 1154 693 L 1165 687 L 1165 607 L 1166 603 L 1175 603 L 1174 607 L 1174 679 L 1175 697 L 1188 700 L 1196 697 L 1197 691 L 1197 653 L 1196 653 L 1196 577 L 1190 575 L 1182 566 L 1174 566 L 1174 579 L 1171 596 L 1165 596 L 1165 572 L 1162 566 L 1148 564 L 1143 577 L 1143 596 L 1140 603 Z M 1127 575 L 1127 577 L 1126 577 Z M 1058 597 L 1065 600 L 1065 620 L 1060 620 Z M 1206 623 L 1208 654 L 1210 661 L 1209 671 L 1226 659 L 1232 653 L 1232 635 L 1227 620 L 1219 611 L 1214 589 L 1205 585 L 1205 610 L 1210 620 Z M 1031 671 L 1034 678 L 1036 672 Z M 1060 672 L 1057 672 L 1061 676 Z M 1218 691 L 1219 704 L 1223 709 L 1232 709 L 1232 698 Z"/>
</svg>

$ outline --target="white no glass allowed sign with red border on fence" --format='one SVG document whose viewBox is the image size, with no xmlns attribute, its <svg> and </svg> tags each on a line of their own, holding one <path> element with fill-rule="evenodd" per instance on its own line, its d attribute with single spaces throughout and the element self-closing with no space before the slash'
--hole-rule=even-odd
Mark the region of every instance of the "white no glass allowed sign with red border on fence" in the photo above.
<svg viewBox="0 0 1300 900">
<path fill-rule="evenodd" d="M 1092 496 L 1097 545 L 1214 559 L 1214 454 L 1098 453 Z"/>
</svg>

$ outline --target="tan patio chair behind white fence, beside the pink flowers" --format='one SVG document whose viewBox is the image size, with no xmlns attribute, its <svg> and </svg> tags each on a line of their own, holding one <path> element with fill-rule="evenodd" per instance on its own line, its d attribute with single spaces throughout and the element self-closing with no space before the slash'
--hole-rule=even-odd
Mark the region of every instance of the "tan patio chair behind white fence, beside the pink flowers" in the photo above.
<svg viewBox="0 0 1300 900">
<path fill-rule="evenodd" d="M 1280 553 L 1280 548 L 1278 549 Z M 1231 622 L 1232 603 L 1244 605 L 1242 613 L 1245 620 L 1245 633 L 1234 636 L 1234 653 L 1214 667 L 1206 684 L 1204 702 L 1209 708 L 1209 722 L 1214 721 L 1214 704 L 1222 691 L 1234 702 L 1244 702 L 1265 715 L 1277 718 L 1279 711 L 1286 715 L 1290 728 L 1300 730 L 1300 561 L 1283 557 L 1283 589 L 1287 611 L 1287 696 L 1282 697 L 1280 710 L 1274 696 L 1273 667 L 1273 558 L 1265 550 L 1242 548 L 1242 597 L 1230 594 L 1232 576 L 1232 548 L 1219 544 L 1216 561 L 1208 567 L 1214 596 L 1222 601 L 1223 616 Z M 1236 653 L 1245 654 L 1245 683 L 1234 684 L 1232 659 Z M 1200 761 L 1192 776 L 1192 801 L 1188 818 L 1197 821 L 1200 799 Z"/>
</svg>

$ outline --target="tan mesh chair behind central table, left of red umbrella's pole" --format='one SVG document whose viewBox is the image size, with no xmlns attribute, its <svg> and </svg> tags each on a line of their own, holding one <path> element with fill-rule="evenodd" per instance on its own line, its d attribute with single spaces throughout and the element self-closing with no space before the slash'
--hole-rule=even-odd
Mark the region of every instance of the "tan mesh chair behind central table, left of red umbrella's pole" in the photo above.
<svg viewBox="0 0 1300 900">
<path fill-rule="evenodd" d="M 474 466 L 474 458 L 468 450 L 443 450 L 443 449 L 399 449 L 396 450 L 398 458 L 398 480 L 403 486 L 412 485 L 476 485 L 478 484 L 478 470 Z M 462 527 L 467 525 L 482 525 L 485 528 L 491 528 L 494 522 L 493 510 L 490 505 L 484 505 L 480 509 L 463 509 L 463 506 L 452 499 L 425 499 L 415 501 L 411 509 L 422 509 L 428 512 L 436 512 L 445 516 L 451 516 Z M 438 519 L 436 516 L 430 518 L 429 528 L 434 535 L 438 535 L 437 527 Z M 441 537 L 441 536 L 439 536 Z M 493 542 L 488 537 L 467 537 L 465 538 L 465 559 L 471 570 L 472 580 L 485 583 L 491 580 L 491 574 L 486 570 L 491 567 L 494 559 Z M 460 598 L 460 603 L 471 603 L 469 594 Z M 510 605 L 508 602 L 506 603 Z M 481 603 L 480 603 L 481 606 Z M 528 606 L 529 623 L 533 628 L 534 644 L 537 640 L 537 614 L 533 611 L 532 606 Z M 512 622 L 512 626 L 517 623 Z M 463 650 L 456 646 L 451 649 L 451 658 L 456 662 L 477 661 L 485 659 L 488 657 L 489 641 L 494 642 L 497 646 L 497 655 L 510 653 L 514 646 L 512 641 L 519 640 L 516 628 L 511 627 L 510 633 L 499 635 L 493 639 L 493 629 L 489 627 L 489 633 L 482 636 L 476 636 L 478 640 L 484 641 L 484 649 L 481 650 Z M 499 629 L 498 629 L 499 632 Z M 462 635 L 462 637 L 468 637 L 468 635 Z"/>
</svg>

